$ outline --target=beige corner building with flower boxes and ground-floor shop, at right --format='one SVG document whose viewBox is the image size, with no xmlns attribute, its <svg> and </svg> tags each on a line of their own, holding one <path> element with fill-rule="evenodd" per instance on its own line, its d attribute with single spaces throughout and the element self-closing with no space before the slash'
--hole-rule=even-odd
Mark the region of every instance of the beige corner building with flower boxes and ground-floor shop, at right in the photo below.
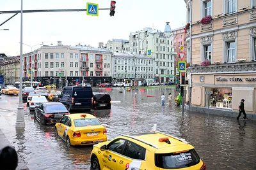
<svg viewBox="0 0 256 170">
<path fill-rule="evenodd" d="M 189 1 L 185 3 L 189 22 Z M 256 113 L 255 6 L 255 0 L 192 1 L 192 60 L 188 55 L 188 62 L 194 110 L 209 107 L 232 113 L 245 99 L 246 112 Z M 188 29 L 188 54 L 189 37 Z"/>
</svg>

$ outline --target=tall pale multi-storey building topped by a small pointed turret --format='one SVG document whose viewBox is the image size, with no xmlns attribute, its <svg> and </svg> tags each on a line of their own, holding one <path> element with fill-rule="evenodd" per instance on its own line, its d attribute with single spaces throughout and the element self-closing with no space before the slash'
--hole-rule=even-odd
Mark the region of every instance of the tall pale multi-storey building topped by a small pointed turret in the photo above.
<svg viewBox="0 0 256 170">
<path fill-rule="evenodd" d="M 169 22 L 166 22 L 164 32 L 152 28 L 131 32 L 129 45 L 132 54 L 147 55 L 147 50 L 151 50 L 154 57 L 154 78 L 157 81 L 173 80 L 174 58 L 177 53 L 174 51 Z"/>
</svg>

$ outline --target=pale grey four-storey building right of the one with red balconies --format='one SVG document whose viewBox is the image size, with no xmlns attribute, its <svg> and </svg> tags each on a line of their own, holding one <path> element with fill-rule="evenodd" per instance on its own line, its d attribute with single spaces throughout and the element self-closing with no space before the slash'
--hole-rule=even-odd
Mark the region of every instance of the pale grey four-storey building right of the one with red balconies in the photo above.
<svg viewBox="0 0 256 170">
<path fill-rule="evenodd" d="M 154 80 L 154 57 L 113 53 L 113 81 L 140 85 L 145 80 Z"/>
</svg>

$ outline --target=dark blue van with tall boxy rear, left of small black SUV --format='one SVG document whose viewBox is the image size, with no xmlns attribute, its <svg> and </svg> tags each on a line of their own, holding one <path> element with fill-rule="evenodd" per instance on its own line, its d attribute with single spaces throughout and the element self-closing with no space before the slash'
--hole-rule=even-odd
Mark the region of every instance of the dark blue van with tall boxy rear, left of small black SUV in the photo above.
<svg viewBox="0 0 256 170">
<path fill-rule="evenodd" d="M 72 110 L 91 110 L 93 103 L 92 87 L 64 87 L 59 99 L 69 112 Z"/>
</svg>

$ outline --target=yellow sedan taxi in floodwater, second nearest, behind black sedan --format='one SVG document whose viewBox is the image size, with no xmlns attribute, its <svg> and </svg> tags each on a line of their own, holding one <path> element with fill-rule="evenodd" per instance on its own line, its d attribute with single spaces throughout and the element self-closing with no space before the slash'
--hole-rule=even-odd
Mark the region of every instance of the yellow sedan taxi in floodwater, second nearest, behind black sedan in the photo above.
<svg viewBox="0 0 256 170">
<path fill-rule="evenodd" d="M 71 114 L 55 124 L 55 134 L 67 142 L 67 146 L 93 145 L 107 141 L 107 130 L 90 114 Z"/>
</svg>

